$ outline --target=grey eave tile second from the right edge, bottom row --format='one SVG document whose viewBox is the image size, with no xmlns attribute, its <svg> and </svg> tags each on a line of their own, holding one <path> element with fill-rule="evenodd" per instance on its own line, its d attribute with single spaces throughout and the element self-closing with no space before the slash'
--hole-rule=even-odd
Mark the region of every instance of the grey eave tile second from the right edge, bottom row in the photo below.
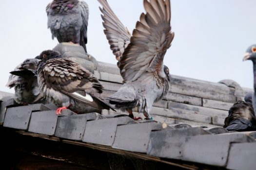
<svg viewBox="0 0 256 170">
<path fill-rule="evenodd" d="M 234 142 L 254 140 L 245 134 L 233 133 L 191 136 L 184 144 L 182 160 L 223 167 L 228 160 L 230 145 Z"/>
</svg>

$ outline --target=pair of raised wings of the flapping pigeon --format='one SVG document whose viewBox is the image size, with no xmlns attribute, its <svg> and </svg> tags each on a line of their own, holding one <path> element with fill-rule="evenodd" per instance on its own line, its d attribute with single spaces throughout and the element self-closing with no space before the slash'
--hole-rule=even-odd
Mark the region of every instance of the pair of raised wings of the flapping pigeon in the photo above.
<svg viewBox="0 0 256 170">
<path fill-rule="evenodd" d="M 118 60 L 120 58 L 119 68 L 124 81 L 135 81 L 146 71 L 164 78 L 163 57 L 174 38 L 170 0 L 144 0 L 146 14 L 141 14 L 130 39 L 106 0 L 98 1 L 103 6 L 104 33 L 113 53 Z"/>
</svg>

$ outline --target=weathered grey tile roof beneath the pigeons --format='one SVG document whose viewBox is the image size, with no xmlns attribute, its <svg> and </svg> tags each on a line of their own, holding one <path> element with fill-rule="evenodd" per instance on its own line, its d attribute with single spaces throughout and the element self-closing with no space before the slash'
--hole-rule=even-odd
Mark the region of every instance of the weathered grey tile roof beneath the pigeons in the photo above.
<svg viewBox="0 0 256 170">
<path fill-rule="evenodd" d="M 122 85 L 122 79 L 115 65 L 98 63 L 95 75 L 108 96 Z M 108 110 L 102 110 L 102 115 L 65 110 L 58 117 L 51 104 L 16 106 L 5 97 L 0 102 L 0 124 L 23 135 L 170 164 L 177 159 L 254 170 L 256 132 L 230 133 L 221 127 L 230 106 L 248 90 L 231 80 L 213 83 L 172 75 L 168 95 L 154 104 L 153 121 L 134 121 L 126 113 Z"/>
</svg>

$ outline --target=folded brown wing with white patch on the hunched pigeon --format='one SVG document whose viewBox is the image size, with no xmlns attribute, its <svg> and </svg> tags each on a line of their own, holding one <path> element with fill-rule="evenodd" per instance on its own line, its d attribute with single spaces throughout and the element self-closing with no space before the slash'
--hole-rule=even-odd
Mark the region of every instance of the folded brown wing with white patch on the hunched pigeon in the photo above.
<svg viewBox="0 0 256 170">
<path fill-rule="evenodd" d="M 48 60 L 42 68 L 42 73 L 39 73 L 39 85 L 46 85 L 78 102 L 98 109 L 110 108 L 98 95 L 103 91 L 98 79 L 68 58 Z"/>
</svg>

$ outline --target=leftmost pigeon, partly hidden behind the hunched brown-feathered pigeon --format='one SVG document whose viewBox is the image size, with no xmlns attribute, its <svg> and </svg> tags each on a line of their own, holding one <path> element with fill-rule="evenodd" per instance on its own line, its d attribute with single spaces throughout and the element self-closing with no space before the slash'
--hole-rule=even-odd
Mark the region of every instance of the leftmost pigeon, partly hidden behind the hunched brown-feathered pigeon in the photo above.
<svg viewBox="0 0 256 170">
<path fill-rule="evenodd" d="M 39 59 L 26 59 L 11 71 L 6 86 L 15 89 L 14 100 L 19 104 L 31 104 L 39 95 L 37 68 Z"/>
</svg>

